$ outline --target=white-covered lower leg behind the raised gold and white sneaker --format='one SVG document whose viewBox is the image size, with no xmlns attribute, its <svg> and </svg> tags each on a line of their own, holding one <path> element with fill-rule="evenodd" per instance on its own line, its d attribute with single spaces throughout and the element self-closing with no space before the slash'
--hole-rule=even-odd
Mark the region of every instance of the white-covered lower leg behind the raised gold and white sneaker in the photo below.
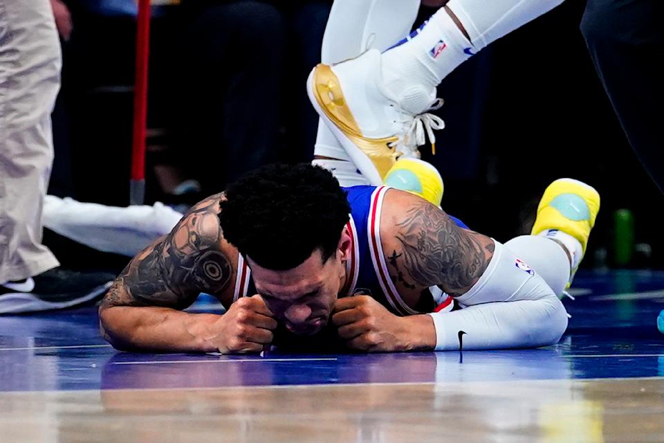
<svg viewBox="0 0 664 443">
<path fill-rule="evenodd" d="M 357 57 L 368 48 L 389 48 L 408 35 L 419 6 L 420 0 L 335 0 L 323 37 L 322 62 L 338 63 Z M 318 123 L 314 154 L 351 163 L 322 121 Z M 351 181 L 364 181 L 359 172 L 356 175 Z M 335 177 L 342 180 L 336 174 Z"/>
</svg>

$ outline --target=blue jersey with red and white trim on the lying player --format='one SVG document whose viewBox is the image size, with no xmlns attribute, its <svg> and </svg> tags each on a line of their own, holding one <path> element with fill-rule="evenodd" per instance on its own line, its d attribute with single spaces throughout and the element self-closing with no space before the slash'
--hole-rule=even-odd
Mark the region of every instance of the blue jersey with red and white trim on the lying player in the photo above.
<svg viewBox="0 0 664 443">
<path fill-rule="evenodd" d="M 452 309 L 452 298 L 437 287 L 430 288 L 432 300 L 430 309 L 422 311 L 409 307 L 396 290 L 389 276 L 385 253 L 380 242 L 380 213 L 388 189 L 386 186 L 344 188 L 351 206 L 347 228 L 352 244 L 351 257 L 346 262 L 347 282 L 339 296 L 353 296 L 358 293 L 369 295 L 394 314 L 402 316 Z M 451 218 L 462 228 L 468 228 L 461 220 Z M 256 293 L 251 271 L 241 255 L 238 257 L 237 268 L 233 300 Z"/>
</svg>

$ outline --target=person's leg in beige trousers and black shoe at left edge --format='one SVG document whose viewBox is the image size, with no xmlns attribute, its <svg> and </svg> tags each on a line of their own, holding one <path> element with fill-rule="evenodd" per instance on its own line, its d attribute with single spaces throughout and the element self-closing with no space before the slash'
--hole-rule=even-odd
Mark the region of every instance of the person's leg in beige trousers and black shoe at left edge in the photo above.
<svg viewBox="0 0 664 443">
<path fill-rule="evenodd" d="M 61 67 L 49 0 L 0 0 L 0 314 L 76 305 L 112 280 L 61 269 L 42 244 Z"/>
</svg>

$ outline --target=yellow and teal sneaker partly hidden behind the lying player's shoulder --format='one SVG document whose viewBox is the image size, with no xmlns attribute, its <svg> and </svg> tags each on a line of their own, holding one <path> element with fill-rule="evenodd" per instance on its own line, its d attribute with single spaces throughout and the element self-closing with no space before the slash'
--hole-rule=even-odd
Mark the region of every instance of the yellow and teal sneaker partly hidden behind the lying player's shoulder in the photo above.
<svg viewBox="0 0 664 443">
<path fill-rule="evenodd" d="M 411 192 L 441 206 L 443 177 L 434 165 L 420 159 L 401 158 L 385 174 L 385 185 Z"/>
</svg>

